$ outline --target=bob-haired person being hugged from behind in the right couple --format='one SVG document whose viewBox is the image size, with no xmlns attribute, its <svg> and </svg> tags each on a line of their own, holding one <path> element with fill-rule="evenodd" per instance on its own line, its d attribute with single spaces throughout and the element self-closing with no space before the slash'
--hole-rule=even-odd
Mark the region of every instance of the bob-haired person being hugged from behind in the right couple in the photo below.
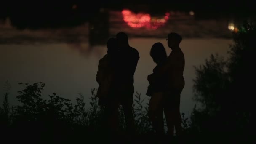
<svg viewBox="0 0 256 144">
<path fill-rule="evenodd" d="M 149 119 L 156 133 L 162 135 L 164 133 L 163 94 L 167 84 L 166 74 L 159 79 L 150 79 L 150 77 L 154 77 L 155 73 L 167 63 L 167 54 L 163 44 L 155 43 L 150 50 L 150 56 L 157 65 L 153 69 L 153 73 L 148 76 L 149 86 L 146 94 L 151 97 L 149 101 Z"/>
</svg>

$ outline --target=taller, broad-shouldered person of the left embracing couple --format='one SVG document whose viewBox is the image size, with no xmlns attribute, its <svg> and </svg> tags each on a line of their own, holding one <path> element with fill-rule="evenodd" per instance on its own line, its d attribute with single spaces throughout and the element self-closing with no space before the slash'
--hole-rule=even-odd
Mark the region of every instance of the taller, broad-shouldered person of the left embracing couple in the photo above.
<svg viewBox="0 0 256 144">
<path fill-rule="evenodd" d="M 128 36 L 124 32 L 117 33 L 116 38 L 119 51 L 115 70 L 115 93 L 117 104 L 123 106 L 127 132 L 131 134 L 135 132 L 132 112 L 134 93 L 133 75 L 139 61 L 139 52 L 129 45 Z"/>
</svg>

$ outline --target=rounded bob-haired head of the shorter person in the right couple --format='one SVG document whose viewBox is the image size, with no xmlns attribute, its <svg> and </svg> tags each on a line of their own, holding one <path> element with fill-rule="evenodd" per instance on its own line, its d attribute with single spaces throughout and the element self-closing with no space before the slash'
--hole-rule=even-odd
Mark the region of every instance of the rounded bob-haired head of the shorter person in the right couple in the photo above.
<svg viewBox="0 0 256 144">
<path fill-rule="evenodd" d="M 162 43 L 154 43 L 150 50 L 150 56 L 152 57 L 155 63 L 160 63 L 162 60 L 167 59 L 167 54 L 165 51 L 165 47 Z"/>
</svg>

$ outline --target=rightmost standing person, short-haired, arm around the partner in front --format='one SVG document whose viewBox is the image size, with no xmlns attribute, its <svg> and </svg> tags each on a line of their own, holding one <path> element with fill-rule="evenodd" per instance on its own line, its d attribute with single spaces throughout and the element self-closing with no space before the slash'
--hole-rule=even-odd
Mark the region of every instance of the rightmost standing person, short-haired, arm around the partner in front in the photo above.
<svg viewBox="0 0 256 144">
<path fill-rule="evenodd" d="M 177 135 L 181 133 L 180 94 L 185 85 L 183 77 L 185 59 L 179 47 L 181 40 L 182 37 L 177 33 L 171 32 L 168 34 L 168 47 L 172 51 L 168 56 L 167 64 L 161 67 L 154 77 L 154 79 L 157 79 L 167 73 L 167 87 L 163 98 L 163 107 L 168 134 L 171 136 L 173 136 L 174 127 Z"/>
</svg>

